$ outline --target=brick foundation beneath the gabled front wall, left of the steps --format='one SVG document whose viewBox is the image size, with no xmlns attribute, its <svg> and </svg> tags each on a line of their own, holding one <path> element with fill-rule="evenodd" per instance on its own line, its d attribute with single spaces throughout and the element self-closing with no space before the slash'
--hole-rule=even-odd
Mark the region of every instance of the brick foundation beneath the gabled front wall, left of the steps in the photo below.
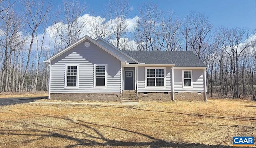
<svg viewBox="0 0 256 148">
<path fill-rule="evenodd" d="M 121 102 L 121 93 L 51 93 L 50 99 Z"/>
</svg>

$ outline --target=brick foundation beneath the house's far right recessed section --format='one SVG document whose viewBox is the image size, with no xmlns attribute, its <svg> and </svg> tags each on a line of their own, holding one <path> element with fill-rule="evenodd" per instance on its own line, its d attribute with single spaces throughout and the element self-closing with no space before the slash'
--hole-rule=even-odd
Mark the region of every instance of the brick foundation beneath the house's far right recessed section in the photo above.
<svg viewBox="0 0 256 148">
<path fill-rule="evenodd" d="M 205 101 L 204 92 L 198 94 L 197 92 L 178 92 L 174 93 L 174 100 L 191 100 L 191 101 Z"/>
</svg>

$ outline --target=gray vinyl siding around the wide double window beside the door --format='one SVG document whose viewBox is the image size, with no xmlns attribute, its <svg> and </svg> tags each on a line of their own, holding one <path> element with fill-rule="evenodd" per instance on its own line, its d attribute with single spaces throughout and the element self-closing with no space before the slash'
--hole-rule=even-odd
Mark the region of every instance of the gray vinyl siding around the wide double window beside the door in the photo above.
<svg viewBox="0 0 256 148">
<path fill-rule="evenodd" d="M 157 68 L 157 67 L 156 67 Z M 166 88 L 145 88 L 145 67 L 138 67 L 138 92 L 171 92 L 172 69 L 165 67 Z"/>
</svg>

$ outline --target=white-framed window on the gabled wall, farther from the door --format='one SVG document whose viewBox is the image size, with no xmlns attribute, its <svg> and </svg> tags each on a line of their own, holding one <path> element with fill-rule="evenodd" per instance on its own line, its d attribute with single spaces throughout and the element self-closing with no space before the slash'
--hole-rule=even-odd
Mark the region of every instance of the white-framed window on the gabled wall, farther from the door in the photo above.
<svg viewBox="0 0 256 148">
<path fill-rule="evenodd" d="M 65 87 L 64 88 L 78 88 L 78 73 L 79 64 L 65 65 Z"/>
</svg>

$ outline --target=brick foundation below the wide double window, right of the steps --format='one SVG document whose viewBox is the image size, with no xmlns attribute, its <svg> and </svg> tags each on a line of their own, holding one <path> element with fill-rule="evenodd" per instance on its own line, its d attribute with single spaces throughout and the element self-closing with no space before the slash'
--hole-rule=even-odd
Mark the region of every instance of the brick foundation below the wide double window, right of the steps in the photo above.
<svg viewBox="0 0 256 148">
<path fill-rule="evenodd" d="M 171 101 L 171 92 L 164 94 L 163 92 L 149 92 L 148 94 L 138 93 L 138 100 L 143 101 Z"/>
</svg>

